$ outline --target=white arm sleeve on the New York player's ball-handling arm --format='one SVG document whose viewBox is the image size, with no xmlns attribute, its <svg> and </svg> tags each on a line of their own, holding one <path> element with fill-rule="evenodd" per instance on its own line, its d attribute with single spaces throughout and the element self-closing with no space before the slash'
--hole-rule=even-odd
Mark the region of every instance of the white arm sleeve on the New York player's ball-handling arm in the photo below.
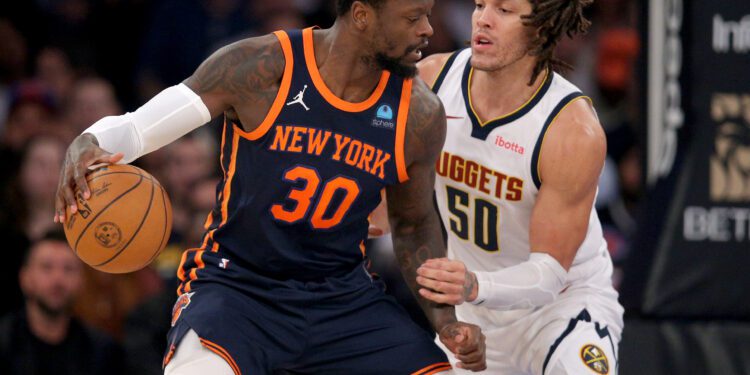
<svg viewBox="0 0 750 375">
<path fill-rule="evenodd" d="M 84 133 L 96 137 L 102 149 L 122 152 L 125 157 L 120 163 L 130 163 L 210 120 L 211 114 L 200 96 L 180 83 L 160 92 L 135 112 L 105 117 Z"/>
</svg>

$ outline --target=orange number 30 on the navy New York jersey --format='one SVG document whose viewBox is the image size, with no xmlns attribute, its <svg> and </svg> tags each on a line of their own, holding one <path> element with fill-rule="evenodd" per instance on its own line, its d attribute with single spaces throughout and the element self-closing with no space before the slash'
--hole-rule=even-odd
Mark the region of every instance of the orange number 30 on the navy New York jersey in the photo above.
<svg viewBox="0 0 750 375">
<path fill-rule="evenodd" d="M 340 223 L 359 195 L 357 182 L 344 176 L 325 181 L 322 193 L 317 194 L 321 182 L 320 176 L 315 169 L 310 167 L 297 166 L 286 171 L 284 181 L 291 183 L 303 181 L 304 186 L 299 189 L 293 188 L 287 195 L 287 200 L 296 203 L 293 209 L 287 210 L 283 204 L 274 204 L 271 206 L 271 214 L 276 220 L 295 223 L 307 217 L 310 207 L 313 206 L 313 200 L 316 200 L 315 209 L 310 215 L 310 225 L 315 229 L 330 229 Z M 333 214 L 326 218 L 324 216 L 329 211 L 333 195 L 338 190 L 344 191 L 344 198 L 338 208 L 333 210 Z"/>
</svg>

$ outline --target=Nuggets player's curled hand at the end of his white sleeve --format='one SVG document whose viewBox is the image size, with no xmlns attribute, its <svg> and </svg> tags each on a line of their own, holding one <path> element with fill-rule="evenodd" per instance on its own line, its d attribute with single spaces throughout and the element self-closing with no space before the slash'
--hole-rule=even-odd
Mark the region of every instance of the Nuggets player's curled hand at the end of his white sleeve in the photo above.
<svg viewBox="0 0 750 375">
<path fill-rule="evenodd" d="M 433 302 L 460 305 L 479 293 L 476 275 L 458 260 L 428 259 L 417 269 L 419 294 Z"/>
</svg>

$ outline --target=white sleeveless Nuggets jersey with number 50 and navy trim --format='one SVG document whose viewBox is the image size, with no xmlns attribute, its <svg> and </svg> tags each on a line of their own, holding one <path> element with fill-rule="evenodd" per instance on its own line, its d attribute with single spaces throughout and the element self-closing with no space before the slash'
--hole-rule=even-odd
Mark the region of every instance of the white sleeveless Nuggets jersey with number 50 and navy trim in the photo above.
<svg viewBox="0 0 750 375">
<path fill-rule="evenodd" d="M 435 192 L 449 234 L 449 255 L 471 270 L 493 271 L 529 258 L 529 223 L 541 186 L 538 163 L 544 133 L 560 110 L 583 94 L 550 73 L 523 107 L 481 123 L 468 94 L 471 50 L 454 57 L 433 87 L 448 117 Z M 606 252 L 592 207 L 572 269 Z"/>
</svg>

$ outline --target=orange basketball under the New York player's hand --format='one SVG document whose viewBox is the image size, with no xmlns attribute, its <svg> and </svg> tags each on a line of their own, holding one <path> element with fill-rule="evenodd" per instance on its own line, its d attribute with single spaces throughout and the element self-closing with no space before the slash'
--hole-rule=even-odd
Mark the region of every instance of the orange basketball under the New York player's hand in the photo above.
<svg viewBox="0 0 750 375">
<path fill-rule="evenodd" d="M 172 230 L 172 205 L 146 171 L 108 165 L 86 176 L 88 200 L 76 191 L 78 212 L 68 216 L 65 236 L 78 257 L 99 271 L 126 273 L 159 255 Z"/>
</svg>

